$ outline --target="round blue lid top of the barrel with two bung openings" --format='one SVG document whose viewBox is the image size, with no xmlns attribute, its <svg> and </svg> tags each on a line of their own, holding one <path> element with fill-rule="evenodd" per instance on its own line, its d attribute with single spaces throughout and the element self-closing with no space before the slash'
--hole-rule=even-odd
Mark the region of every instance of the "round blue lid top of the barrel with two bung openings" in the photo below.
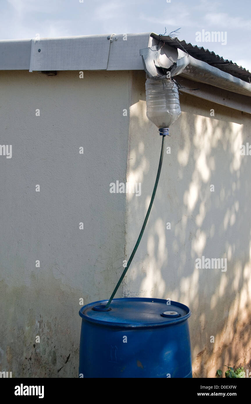
<svg viewBox="0 0 251 404">
<path fill-rule="evenodd" d="M 102 310 L 107 302 L 108 300 L 100 300 L 89 303 L 81 307 L 79 314 L 89 322 L 129 328 L 166 326 L 185 321 L 191 315 L 189 307 L 165 299 L 146 297 L 113 299 L 110 310 Z M 99 305 L 100 311 L 97 310 Z"/>
</svg>

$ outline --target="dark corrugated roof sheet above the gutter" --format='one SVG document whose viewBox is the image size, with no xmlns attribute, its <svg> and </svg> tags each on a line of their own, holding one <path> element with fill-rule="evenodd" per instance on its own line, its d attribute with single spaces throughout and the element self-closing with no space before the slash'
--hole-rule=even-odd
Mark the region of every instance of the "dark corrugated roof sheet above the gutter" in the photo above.
<svg viewBox="0 0 251 404">
<path fill-rule="evenodd" d="M 232 60 L 223 59 L 223 57 L 216 55 L 214 52 L 210 52 L 210 50 L 203 48 L 203 46 L 198 47 L 197 45 L 192 45 L 191 43 L 186 43 L 184 40 L 180 41 L 178 38 L 171 38 L 170 36 L 152 34 L 152 37 L 164 40 L 169 46 L 184 50 L 195 59 L 202 60 L 203 62 L 217 67 L 223 72 L 232 74 L 232 76 L 238 77 L 247 83 L 251 82 L 251 73 L 247 69 L 238 66 L 236 63 L 233 63 Z"/>
</svg>

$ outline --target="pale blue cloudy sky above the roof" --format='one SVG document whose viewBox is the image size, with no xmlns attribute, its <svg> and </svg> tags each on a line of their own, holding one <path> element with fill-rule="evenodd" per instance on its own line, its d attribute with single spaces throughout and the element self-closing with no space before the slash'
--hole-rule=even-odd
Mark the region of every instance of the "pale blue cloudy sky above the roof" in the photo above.
<svg viewBox="0 0 251 404">
<path fill-rule="evenodd" d="M 251 3 L 246 0 L 1 0 L 0 39 L 155 32 L 204 46 L 251 71 Z M 221 42 L 196 42 L 219 31 Z"/>
</svg>

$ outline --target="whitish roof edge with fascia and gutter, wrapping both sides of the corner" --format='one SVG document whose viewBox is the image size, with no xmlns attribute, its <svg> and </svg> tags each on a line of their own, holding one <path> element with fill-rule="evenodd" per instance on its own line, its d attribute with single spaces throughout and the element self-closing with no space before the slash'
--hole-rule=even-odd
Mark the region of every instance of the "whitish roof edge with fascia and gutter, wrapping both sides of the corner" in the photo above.
<svg viewBox="0 0 251 404">
<path fill-rule="evenodd" d="M 251 84 L 224 72 L 205 61 L 195 59 L 180 48 L 168 44 L 168 38 L 154 33 L 143 34 L 108 34 L 73 36 L 63 38 L 33 38 L 25 40 L 0 41 L 0 70 L 29 70 L 60 71 L 60 70 L 143 70 L 150 73 L 157 66 L 158 74 L 163 67 L 169 69 L 172 76 L 184 77 L 187 81 L 205 84 L 203 90 L 192 91 L 183 88 L 182 91 L 205 98 L 210 86 L 224 90 L 224 97 L 218 93 L 214 102 L 226 105 L 233 98 L 233 93 L 244 96 L 240 102 L 227 102 L 227 106 L 251 113 L 249 98 Z M 156 60 L 147 60 L 142 55 L 146 50 L 163 42 L 161 53 Z M 166 42 L 167 41 L 167 42 Z M 140 51 L 141 50 L 141 55 Z M 149 50 L 150 53 L 152 50 Z M 143 57 L 143 63 L 142 63 Z M 151 59 L 151 60 L 150 60 Z M 149 64 L 146 65 L 146 63 Z M 156 63 L 155 63 L 156 62 Z M 152 70 L 150 67 L 152 66 Z M 200 87 L 200 86 L 198 86 Z M 206 90 L 207 89 L 207 90 Z M 212 93 L 212 89 L 211 89 Z M 230 93 L 230 95 L 229 95 Z M 227 97 L 228 95 L 228 97 Z M 210 96 L 211 97 L 211 96 Z M 209 98 L 210 98 L 209 97 Z M 223 102 L 224 101 L 224 102 Z M 238 106 L 239 105 L 239 106 Z"/>
</svg>

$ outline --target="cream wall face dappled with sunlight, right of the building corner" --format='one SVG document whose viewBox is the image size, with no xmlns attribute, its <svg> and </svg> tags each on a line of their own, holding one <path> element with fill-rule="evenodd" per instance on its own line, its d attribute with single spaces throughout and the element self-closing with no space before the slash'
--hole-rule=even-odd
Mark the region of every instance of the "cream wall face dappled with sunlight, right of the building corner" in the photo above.
<svg viewBox="0 0 251 404">
<path fill-rule="evenodd" d="M 127 177 L 141 182 L 141 197 L 127 200 L 127 259 L 150 202 L 161 147 L 146 117 L 144 83 L 143 74 L 132 74 Z M 165 154 L 123 295 L 188 305 L 193 375 L 215 377 L 218 368 L 251 359 L 251 156 L 240 156 L 240 146 L 251 140 L 251 119 L 191 95 L 180 101 L 181 117 L 166 137 L 171 154 Z M 202 256 L 227 258 L 227 270 L 196 269 Z"/>
</svg>

